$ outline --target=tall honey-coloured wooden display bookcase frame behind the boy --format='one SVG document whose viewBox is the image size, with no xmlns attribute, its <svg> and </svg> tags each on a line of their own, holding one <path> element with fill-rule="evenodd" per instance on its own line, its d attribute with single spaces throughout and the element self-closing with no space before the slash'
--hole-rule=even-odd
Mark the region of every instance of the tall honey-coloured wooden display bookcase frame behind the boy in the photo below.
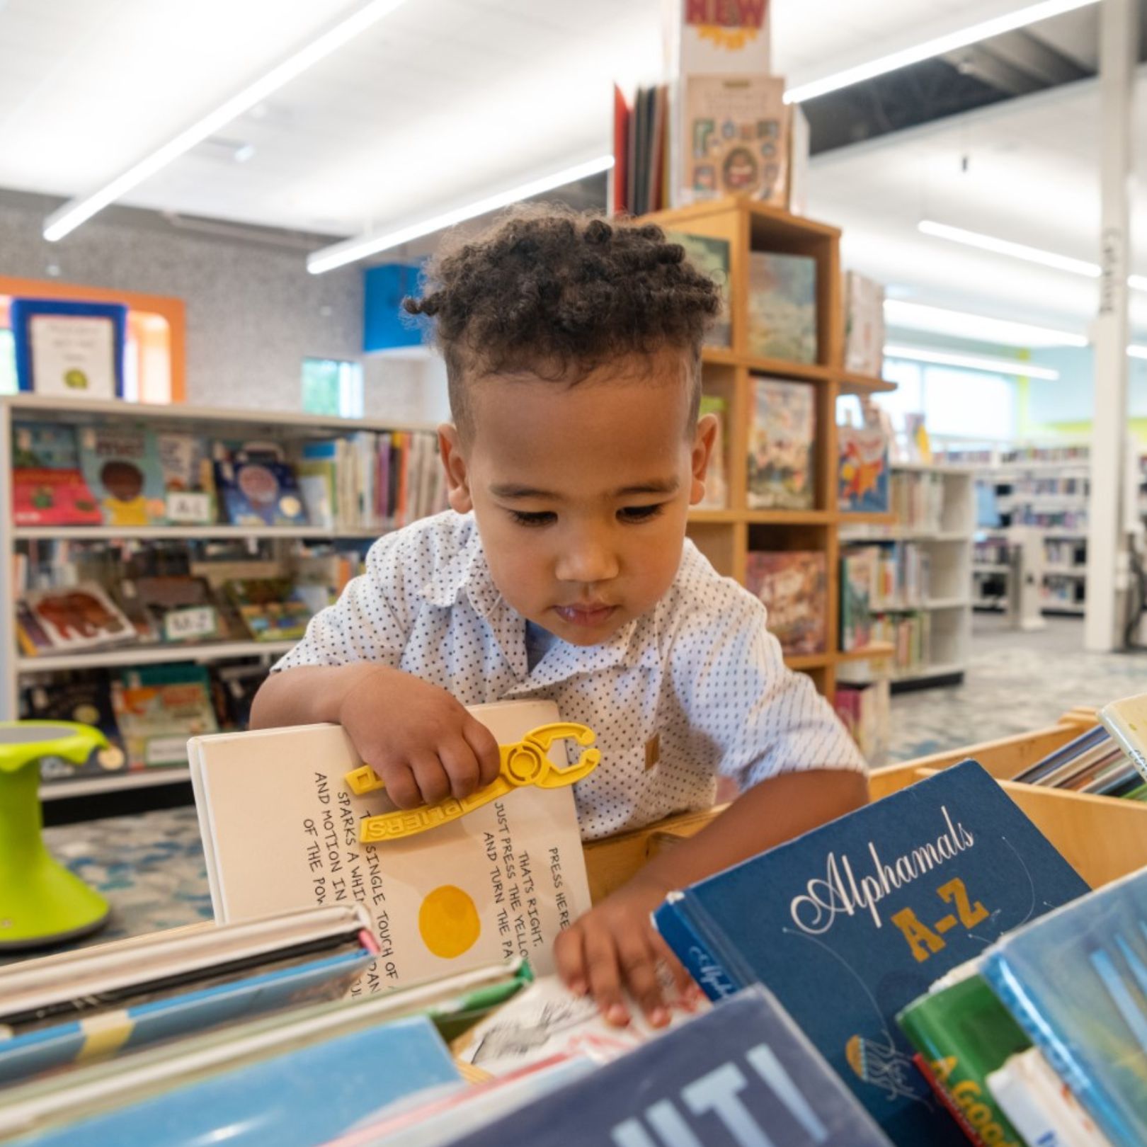
<svg viewBox="0 0 1147 1147">
<path fill-rule="evenodd" d="M 842 522 L 890 522 L 888 515 L 842 515 L 836 508 L 836 400 L 841 395 L 894 390 L 882 379 L 844 368 L 844 317 L 837 228 L 787 211 L 731 197 L 693 204 L 646 217 L 672 234 L 702 236 L 727 244 L 727 344 L 705 346 L 703 389 L 724 404 L 720 440 L 726 475 L 726 500 L 720 508 L 689 515 L 689 537 L 717 570 L 746 584 L 752 552 L 824 554 L 826 578 L 822 651 L 789 656 L 787 663 L 806 672 L 818 689 L 832 697 L 837 668 L 856 654 L 837 643 L 838 556 Z M 804 256 L 816 266 L 814 336 L 810 361 L 760 358 L 750 353 L 750 265 L 754 255 Z M 724 331 L 724 325 L 723 325 Z M 758 379 L 781 380 L 809 388 L 814 411 L 812 498 L 806 508 L 749 507 L 749 455 Z"/>
</svg>

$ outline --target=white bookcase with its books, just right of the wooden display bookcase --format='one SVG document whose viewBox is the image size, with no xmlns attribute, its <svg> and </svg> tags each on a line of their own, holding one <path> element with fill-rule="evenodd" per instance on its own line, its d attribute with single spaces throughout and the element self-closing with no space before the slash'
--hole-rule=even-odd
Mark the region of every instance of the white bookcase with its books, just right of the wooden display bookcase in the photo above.
<svg viewBox="0 0 1147 1147">
<path fill-rule="evenodd" d="M 972 639 L 975 474 L 916 462 L 892 462 L 891 471 L 894 524 L 855 525 L 841 535 L 842 593 L 850 588 L 849 567 L 858 567 L 855 595 L 867 598 L 860 611 L 869 621 L 861 622 L 858 660 L 838 676 L 857 684 L 869 679 L 867 637 L 892 643 L 894 690 L 957 685 Z M 842 643 L 853 643 L 846 632 Z"/>
</svg>

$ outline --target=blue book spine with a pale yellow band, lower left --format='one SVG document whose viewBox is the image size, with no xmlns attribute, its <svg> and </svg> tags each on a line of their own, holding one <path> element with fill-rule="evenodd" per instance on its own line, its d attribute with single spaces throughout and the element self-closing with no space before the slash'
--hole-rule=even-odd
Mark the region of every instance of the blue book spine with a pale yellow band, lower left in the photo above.
<svg viewBox="0 0 1147 1147">
<path fill-rule="evenodd" d="M 374 958 L 375 953 L 364 947 L 0 1039 L 0 1084 L 279 1008 L 340 999 Z"/>
</svg>

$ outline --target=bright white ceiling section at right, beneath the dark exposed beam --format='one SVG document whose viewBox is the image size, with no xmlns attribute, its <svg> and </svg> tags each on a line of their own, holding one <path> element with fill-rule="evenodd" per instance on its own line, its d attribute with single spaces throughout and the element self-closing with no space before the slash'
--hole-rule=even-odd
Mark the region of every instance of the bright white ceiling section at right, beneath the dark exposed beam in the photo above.
<svg viewBox="0 0 1147 1147">
<path fill-rule="evenodd" d="M 1137 103 L 1144 124 L 1147 79 Z M 1099 263 L 1099 87 L 1083 80 L 819 156 L 810 213 L 843 228 L 846 265 L 902 297 L 1085 331 L 1097 280 L 933 239 L 916 224 L 934 219 Z M 1142 169 L 1147 133 L 1137 140 Z M 1141 194 L 1131 232 L 1131 270 L 1147 273 Z M 1147 295 L 1131 299 L 1142 334 Z"/>
</svg>

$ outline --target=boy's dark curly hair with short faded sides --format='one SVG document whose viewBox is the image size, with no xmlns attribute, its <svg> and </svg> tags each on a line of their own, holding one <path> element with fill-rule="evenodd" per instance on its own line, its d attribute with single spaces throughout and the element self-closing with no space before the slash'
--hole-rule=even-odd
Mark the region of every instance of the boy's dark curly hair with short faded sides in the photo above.
<svg viewBox="0 0 1147 1147">
<path fill-rule="evenodd" d="M 664 349 L 693 358 L 693 424 L 701 341 L 721 301 L 661 227 L 538 204 L 439 253 L 422 297 L 403 305 L 437 320 L 451 411 L 465 432 L 474 379 L 529 373 L 572 385 L 610 359 Z"/>
</svg>

